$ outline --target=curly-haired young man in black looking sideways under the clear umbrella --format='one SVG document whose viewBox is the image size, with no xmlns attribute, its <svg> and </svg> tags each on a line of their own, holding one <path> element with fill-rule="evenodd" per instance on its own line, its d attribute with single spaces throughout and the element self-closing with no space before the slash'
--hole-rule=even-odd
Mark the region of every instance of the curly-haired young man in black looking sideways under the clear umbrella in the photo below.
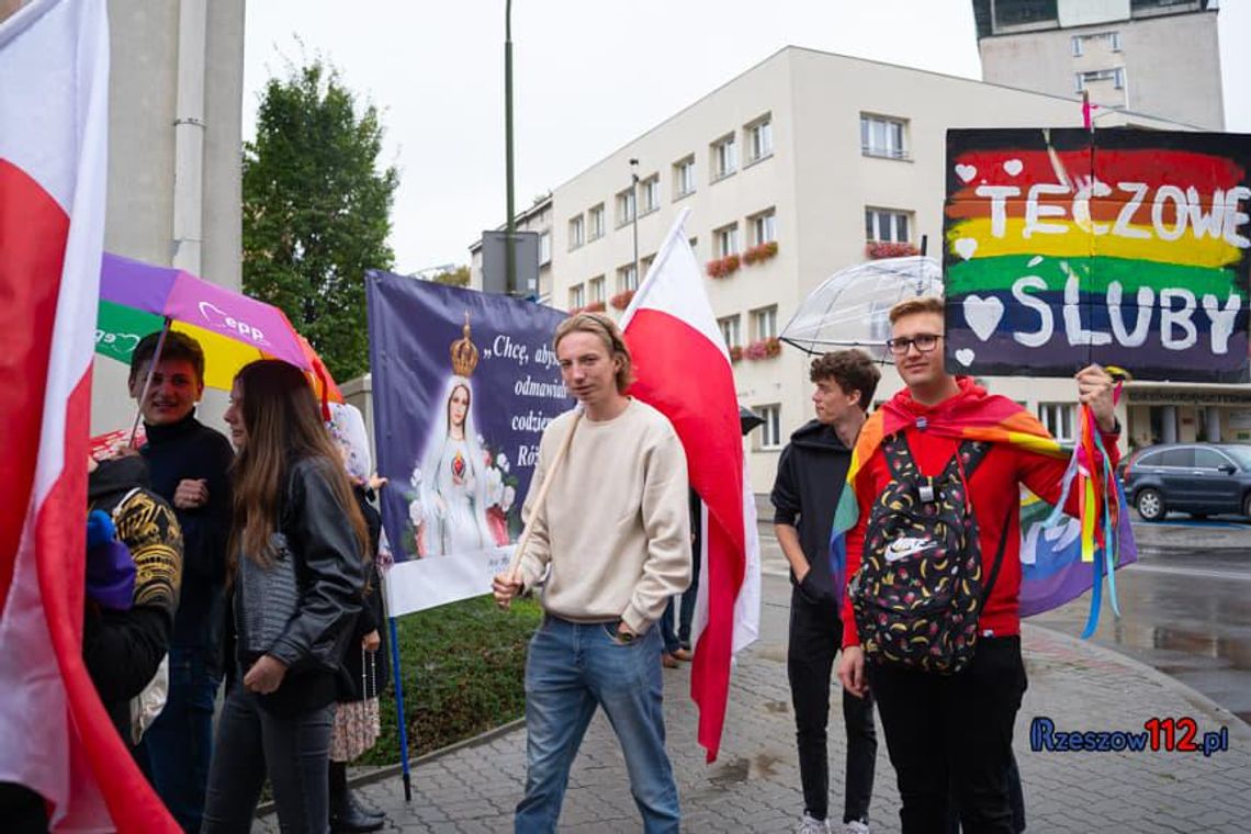
<svg viewBox="0 0 1251 834">
<path fill-rule="evenodd" d="M 829 678 L 842 645 L 836 579 L 831 575 L 829 531 L 834 508 L 847 479 L 851 450 L 864 424 L 882 374 L 861 350 L 837 350 L 812 363 L 812 401 L 817 418 L 794 434 L 782 450 L 773 483 L 773 528 L 791 563 L 791 636 L 787 675 L 794 704 L 803 783 L 801 834 L 836 830 L 826 820 L 829 764 L 826 725 L 829 720 Z M 843 691 L 847 730 L 847 781 L 841 831 L 868 831 L 873 794 L 877 735 L 873 703 Z"/>
</svg>

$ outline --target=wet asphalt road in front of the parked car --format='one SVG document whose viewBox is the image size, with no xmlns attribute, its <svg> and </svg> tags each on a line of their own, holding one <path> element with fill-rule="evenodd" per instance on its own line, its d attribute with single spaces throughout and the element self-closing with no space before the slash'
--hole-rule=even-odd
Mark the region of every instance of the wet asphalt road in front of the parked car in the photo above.
<svg viewBox="0 0 1251 834">
<path fill-rule="evenodd" d="M 1178 520 L 1168 526 L 1182 528 L 1167 530 L 1173 535 L 1223 530 L 1236 544 L 1227 541 L 1220 549 L 1140 545 L 1138 564 L 1116 574 L 1122 616 L 1117 619 L 1105 600 L 1092 639 L 1155 666 L 1251 723 L 1251 525 Z M 1237 544 L 1243 539 L 1246 548 Z M 1088 614 L 1090 598 L 1083 596 L 1030 621 L 1076 636 Z"/>
</svg>

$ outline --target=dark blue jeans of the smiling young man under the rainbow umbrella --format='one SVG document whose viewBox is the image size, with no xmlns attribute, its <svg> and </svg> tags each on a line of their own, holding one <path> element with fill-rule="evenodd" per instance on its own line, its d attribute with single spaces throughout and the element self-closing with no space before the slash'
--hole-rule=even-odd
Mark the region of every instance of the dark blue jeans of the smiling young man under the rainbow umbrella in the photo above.
<svg viewBox="0 0 1251 834">
<path fill-rule="evenodd" d="M 213 755 L 213 703 L 220 685 L 206 650 L 170 648 L 165 709 L 135 750 L 153 788 L 184 831 L 200 830 Z"/>
</svg>

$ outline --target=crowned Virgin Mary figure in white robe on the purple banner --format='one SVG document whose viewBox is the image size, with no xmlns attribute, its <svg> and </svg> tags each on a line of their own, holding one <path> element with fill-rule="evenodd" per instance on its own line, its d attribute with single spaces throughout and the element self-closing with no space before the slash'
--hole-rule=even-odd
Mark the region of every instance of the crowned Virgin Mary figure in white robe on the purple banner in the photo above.
<svg viewBox="0 0 1251 834">
<path fill-rule="evenodd" d="M 415 498 L 409 519 L 417 530 L 419 556 L 477 553 L 500 541 L 487 521 L 490 475 L 487 453 L 474 428 L 474 393 L 469 378 L 478 366 L 478 348 L 469 338 L 465 313 L 463 336 L 452 343 L 452 376 L 435 403 L 432 430 L 422 459 L 413 470 Z"/>
</svg>

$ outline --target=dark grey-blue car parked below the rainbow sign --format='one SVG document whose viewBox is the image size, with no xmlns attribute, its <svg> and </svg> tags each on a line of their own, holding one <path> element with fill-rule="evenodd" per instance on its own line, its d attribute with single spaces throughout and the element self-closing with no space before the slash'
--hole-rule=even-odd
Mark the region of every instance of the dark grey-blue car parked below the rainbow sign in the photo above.
<svg viewBox="0 0 1251 834">
<path fill-rule="evenodd" d="M 1125 496 L 1145 521 L 1171 510 L 1195 518 L 1251 515 L 1251 446 L 1170 443 L 1133 453 L 1126 463 Z"/>
</svg>

